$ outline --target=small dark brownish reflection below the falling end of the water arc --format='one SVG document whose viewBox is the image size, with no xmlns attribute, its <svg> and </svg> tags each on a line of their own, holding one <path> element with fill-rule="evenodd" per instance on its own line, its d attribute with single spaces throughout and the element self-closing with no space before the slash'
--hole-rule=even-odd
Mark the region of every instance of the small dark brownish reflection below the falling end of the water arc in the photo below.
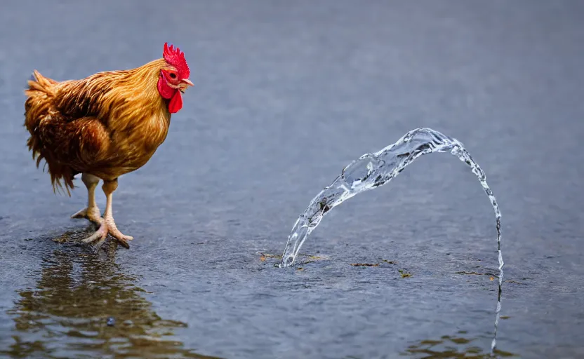
<svg viewBox="0 0 584 359">
<path fill-rule="evenodd" d="M 491 351 L 485 352 L 473 344 L 473 341 L 478 340 L 478 338 L 469 339 L 465 337 L 465 334 L 466 332 L 460 331 L 456 336 L 444 335 L 440 339 L 418 341 L 416 344 L 408 346 L 401 355 L 424 359 L 517 358 L 517 355 L 499 349 L 495 349 L 493 353 Z"/>
</svg>

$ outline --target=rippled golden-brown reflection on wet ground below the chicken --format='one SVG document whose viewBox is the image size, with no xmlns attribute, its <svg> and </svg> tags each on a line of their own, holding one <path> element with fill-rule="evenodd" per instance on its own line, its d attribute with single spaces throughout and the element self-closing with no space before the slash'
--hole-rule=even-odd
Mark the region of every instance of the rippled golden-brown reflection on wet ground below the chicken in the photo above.
<svg viewBox="0 0 584 359">
<path fill-rule="evenodd" d="M 136 279 L 114 259 L 115 243 L 95 252 L 67 232 L 59 249 L 44 256 L 36 288 L 22 290 L 9 310 L 11 358 L 209 358 L 183 348 L 173 334 L 185 323 L 164 320 L 142 297 Z M 115 324 L 108 326 L 107 319 Z"/>
</svg>

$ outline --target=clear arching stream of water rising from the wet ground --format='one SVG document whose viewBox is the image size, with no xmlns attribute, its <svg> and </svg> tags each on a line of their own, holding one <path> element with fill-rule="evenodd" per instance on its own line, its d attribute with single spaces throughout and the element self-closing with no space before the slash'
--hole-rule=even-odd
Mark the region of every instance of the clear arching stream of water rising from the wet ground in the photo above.
<svg viewBox="0 0 584 359">
<path fill-rule="evenodd" d="M 356 161 L 352 161 L 343 168 L 330 186 L 325 187 L 310 201 L 310 205 L 296 220 L 288 236 L 286 248 L 282 255 L 280 268 L 291 266 L 298 255 L 306 238 L 317 228 L 328 211 L 340 203 L 363 191 L 375 189 L 390 182 L 407 165 L 423 154 L 433 152 L 450 152 L 470 166 L 471 170 L 481 182 L 481 185 L 491 200 L 495 211 L 497 228 L 497 251 L 499 263 L 498 299 L 495 319 L 495 336 L 491 343 L 491 352 L 496 346 L 496 334 L 501 309 L 501 284 L 503 283 L 503 256 L 501 255 L 501 214 L 493 191 L 486 183 L 486 176 L 479 165 L 472 159 L 462 143 L 431 128 L 416 128 L 406 133 L 397 142 L 391 144 L 375 154 L 364 154 Z"/>
</svg>

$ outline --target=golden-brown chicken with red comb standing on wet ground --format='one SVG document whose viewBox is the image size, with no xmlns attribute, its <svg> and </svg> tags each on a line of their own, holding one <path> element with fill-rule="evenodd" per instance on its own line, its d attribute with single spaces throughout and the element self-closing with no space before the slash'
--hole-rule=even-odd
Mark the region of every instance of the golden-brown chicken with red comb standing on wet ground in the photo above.
<svg viewBox="0 0 584 359">
<path fill-rule="evenodd" d="M 164 44 L 163 58 L 135 69 L 100 72 L 86 79 L 54 81 L 34 71 L 25 90 L 27 141 L 36 167 L 44 159 L 53 191 L 71 196 L 81 173 L 87 208 L 72 215 L 98 224 L 85 243 L 102 243 L 107 234 L 129 248 L 112 215 L 118 177 L 142 167 L 164 142 L 171 114 L 183 107 L 181 93 L 190 70 L 179 48 Z M 100 179 L 106 196 L 103 217 L 95 204 Z"/>
</svg>

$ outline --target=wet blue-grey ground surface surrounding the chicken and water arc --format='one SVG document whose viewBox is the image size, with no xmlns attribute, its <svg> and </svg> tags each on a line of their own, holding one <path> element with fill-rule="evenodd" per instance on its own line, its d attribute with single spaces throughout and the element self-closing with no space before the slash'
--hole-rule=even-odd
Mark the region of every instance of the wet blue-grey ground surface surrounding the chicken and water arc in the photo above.
<svg viewBox="0 0 584 359">
<path fill-rule="evenodd" d="M 4 8 L 0 357 L 486 355 L 494 216 L 453 156 L 343 203 L 298 266 L 274 268 L 343 166 L 416 127 L 462 141 L 500 203 L 500 355 L 584 356 L 581 1 Z M 91 227 L 69 216 L 86 191 L 77 180 L 55 196 L 35 168 L 25 81 L 137 67 L 164 41 L 185 51 L 195 87 L 152 160 L 119 181 L 114 217 L 135 239 L 81 245 Z"/>
</svg>

